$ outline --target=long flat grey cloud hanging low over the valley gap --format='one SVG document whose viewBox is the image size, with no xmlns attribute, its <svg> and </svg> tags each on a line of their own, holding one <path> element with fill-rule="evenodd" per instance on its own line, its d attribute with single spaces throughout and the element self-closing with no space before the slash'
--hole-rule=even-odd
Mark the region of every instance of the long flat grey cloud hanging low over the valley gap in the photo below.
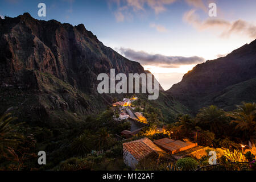
<svg viewBox="0 0 256 182">
<path fill-rule="evenodd" d="M 164 68 L 179 68 L 184 64 L 198 64 L 205 60 L 203 57 L 182 57 L 182 56 L 164 56 L 160 54 L 150 54 L 144 51 L 134 51 L 133 49 L 119 48 L 119 52 L 128 59 L 138 61 L 142 65 L 154 65 Z"/>
</svg>

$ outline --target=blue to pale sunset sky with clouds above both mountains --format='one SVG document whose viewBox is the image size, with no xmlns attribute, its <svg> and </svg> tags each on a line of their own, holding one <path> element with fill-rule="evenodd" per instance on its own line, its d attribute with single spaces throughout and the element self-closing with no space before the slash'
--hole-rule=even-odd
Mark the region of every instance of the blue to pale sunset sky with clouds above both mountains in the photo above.
<svg viewBox="0 0 256 182">
<path fill-rule="evenodd" d="M 38 4 L 46 4 L 46 17 Z M 216 16 L 210 3 L 216 5 Z M 0 16 L 83 23 L 105 46 L 138 61 L 167 90 L 206 60 L 256 39 L 255 0 L 1 0 Z"/>
</svg>

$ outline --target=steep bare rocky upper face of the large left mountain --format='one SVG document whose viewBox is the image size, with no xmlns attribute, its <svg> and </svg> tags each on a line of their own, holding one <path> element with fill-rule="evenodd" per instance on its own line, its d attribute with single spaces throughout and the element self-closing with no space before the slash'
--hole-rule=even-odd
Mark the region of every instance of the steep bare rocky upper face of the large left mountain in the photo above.
<svg viewBox="0 0 256 182">
<path fill-rule="evenodd" d="M 0 23 L 1 77 L 6 84 L 19 84 L 13 75 L 26 69 L 50 73 L 84 92 L 95 92 L 97 75 L 109 68 L 144 72 L 139 63 L 105 47 L 83 24 L 45 22 L 27 13 Z"/>
</svg>

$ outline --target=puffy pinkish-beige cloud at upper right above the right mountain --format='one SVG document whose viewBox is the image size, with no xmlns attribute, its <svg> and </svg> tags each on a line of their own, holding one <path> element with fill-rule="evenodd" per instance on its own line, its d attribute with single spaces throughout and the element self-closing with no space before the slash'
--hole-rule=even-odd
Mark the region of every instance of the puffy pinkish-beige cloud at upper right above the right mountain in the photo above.
<svg viewBox="0 0 256 182">
<path fill-rule="evenodd" d="M 199 31 L 214 29 L 218 30 L 218 32 L 221 31 L 220 36 L 222 37 L 228 38 L 232 34 L 241 33 L 249 36 L 250 38 L 256 38 L 256 26 L 246 22 L 245 20 L 238 19 L 234 22 L 228 22 L 227 20 L 218 18 L 200 20 L 195 10 L 185 13 L 183 19 Z"/>
</svg>

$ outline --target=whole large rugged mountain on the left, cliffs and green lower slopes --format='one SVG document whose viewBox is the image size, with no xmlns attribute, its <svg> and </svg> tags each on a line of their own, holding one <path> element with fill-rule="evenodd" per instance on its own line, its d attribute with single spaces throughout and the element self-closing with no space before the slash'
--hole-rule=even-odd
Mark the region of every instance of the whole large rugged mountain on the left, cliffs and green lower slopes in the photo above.
<svg viewBox="0 0 256 182">
<path fill-rule="evenodd" d="M 0 39 L 0 112 L 13 107 L 17 117 L 36 125 L 68 127 L 100 113 L 113 97 L 122 98 L 98 94 L 100 73 L 109 74 L 111 68 L 146 73 L 141 64 L 104 46 L 83 24 L 46 22 L 24 13 L 0 18 Z M 167 114 L 180 112 L 180 106 L 173 110 L 164 103 L 175 108 L 176 101 L 161 91 L 155 106 Z"/>
</svg>

